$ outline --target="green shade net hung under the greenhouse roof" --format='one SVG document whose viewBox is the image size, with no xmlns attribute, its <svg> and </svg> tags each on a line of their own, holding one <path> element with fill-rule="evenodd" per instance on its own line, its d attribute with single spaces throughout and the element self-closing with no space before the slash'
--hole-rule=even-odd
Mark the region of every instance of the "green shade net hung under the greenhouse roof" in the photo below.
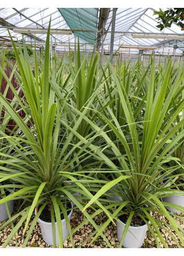
<svg viewBox="0 0 184 256">
<path fill-rule="evenodd" d="M 58 8 L 70 29 L 97 30 L 98 8 Z M 76 37 L 95 43 L 96 32 L 74 32 Z"/>
</svg>

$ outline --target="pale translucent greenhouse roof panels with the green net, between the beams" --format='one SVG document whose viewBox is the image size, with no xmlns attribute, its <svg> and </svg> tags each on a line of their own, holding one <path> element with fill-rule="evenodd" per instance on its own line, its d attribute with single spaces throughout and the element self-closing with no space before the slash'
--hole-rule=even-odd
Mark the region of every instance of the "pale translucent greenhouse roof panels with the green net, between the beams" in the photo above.
<svg viewBox="0 0 184 256">
<path fill-rule="evenodd" d="M 107 17 L 105 17 L 106 19 L 104 18 L 104 44 L 109 44 L 111 41 L 113 8 L 106 9 L 109 9 L 109 11 Z M 135 33 L 184 35 L 181 28 L 175 24 L 172 24 L 170 28 L 160 31 L 160 29 L 156 28 L 157 20 L 153 12 L 153 8 L 117 8 L 114 43 L 135 46 L 159 46 L 165 43 L 167 45 L 176 44 L 176 40 L 132 37 L 132 34 Z M 79 36 L 84 43 L 96 43 L 97 30 L 102 21 L 100 8 L 0 8 L 0 40 L 8 37 L 8 31 L 5 26 L 11 29 L 12 36 L 21 40 L 22 35 L 13 32 L 14 28 L 46 29 L 50 17 L 52 19 L 52 29 L 79 30 L 73 31 L 71 35 L 52 35 L 56 42 L 73 42 Z M 45 34 L 24 34 L 24 39 L 26 40 L 34 41 L 34 37 L 36 37 L 38 42 L 44 42 L 46 39 Z M 179 42 L 180 47 L 182 47 L 183 40 Z M 180 49 L 184 50 L 184 48 Z"/>
</svg>

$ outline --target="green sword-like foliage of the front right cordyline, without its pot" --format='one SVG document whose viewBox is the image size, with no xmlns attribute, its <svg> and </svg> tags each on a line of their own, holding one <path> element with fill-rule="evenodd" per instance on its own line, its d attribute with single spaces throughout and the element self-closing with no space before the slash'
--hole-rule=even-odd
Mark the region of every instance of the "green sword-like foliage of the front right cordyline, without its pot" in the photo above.
<svg viewBox="0 0 184 256">
<path fill-rule="evenodd" d="M 117 177 L 120 177 L 120 174 L 122 175 L 122 173 L 130 176 L 130 179 L 120 181 L 111 189 L 113 192 L 111 193 L 111 197 L 119 195 L 122 198 L 122 201 L 116 203 L 114 201 L 110 201 L 112 209 L 114 206 L 117 206 L 116 210 L 114 210 L 112 214 L 112 218 L 116 218 L 116 220 L 122 225 L 118 216 L 125 213 L 129 216 L 124 232 L 122 233 L 119 247 L 121 247 L 126 233 L 129 232 L 128 227 L 130 226 L 133 216 L 140 216 L 145 224 L 148 225 L 158 247 L 160 247 L 160 243 L 157 241 L 157 237 L 150 226 L 150 222 L 155 228 L 158 238 L 160 238 L 165 248 L 167 248 L 167 244 L 162 237 L 160 228 L 166 230 L 170 237 L 177 243 L 178 247 L 180 247 L 179 242 L 165 226 L 171 227 L 175 230 L 180 243 L 183 246 L 184 230 L 173 218 L 173 216 L 176 215 L 167 212 L 164 206 L 176 208 L 182 213 L 184 213 L 184 209 L 183 207 L 175 204 L 162 202 L 162 198 L 167 196 L 167 193 L 170 190 L 170 186 L 162 185 L 162 179 L 165 176 L 165 174 L 162 174 L 162 164 L 169 160 L 170 149 L 175 145 L 178 145 L 180 141 L 183 141 L 184 130 L 182 127 L 184 119 L 177 119 L 179 113 L 184 107 L 183 98 L 180 96 L 184 88 L 182 83 L 183 68 L 178 68 L 174 77 L 172 77 L 173 66 L 171 65 L 170 60 L 165 63 L 162 71 L 159 71 L 159 74 L 156 76 L 157 79 L 155 80 L 154 59 L 152 60 L 149 78 L 146 77 L 144 80 L 145 96 L 143 94 L 142 98 L 139 98 L 139 102 L 142 104 L 142 109 L 140 109 L 141 113 L 139 114 L 142 115 L 142 111 L 144 110 L 144 118 L 141 124 L 136 122 L 133 115 L 134 109 L 132 108 L 132 98 L 125 92 L 125 87 L 122 86 L 120 77 L 112 66 L 111 71 L 114 79 L 114 90 L 117 92 L 121 107 L 124 110 L 126 126 L 128 127 L 127 129 L 129 134 L 125 135 L 124 128 L 119 125 L 118 120 L 113 113 L 113 111 L 116 112 L 119 109 L 115 109 L 114 107 L 115 110 L 113 110 L 112 105 L 110 105 L 107 107 L 108 117 L 99 112 L 97 114 L 99 115 L 99 118 L 103 118 L 105 120 L 105 123 L 108 124 L 108 129 L 117 137 L 119 142 L 118 145 L 122 144 L 122 147 L 125 149 L 125 153 L 122 154 L 119 151 L 119 147 L 116 146 L 117 143 L 112 141 L 111 138 L 101 131 L 100 136 L 104 138 L 104 141 L 107 142 L 108 145 L 111 146 L 111 154 L 114 155 L 114 158 L 111 157 L 108 161 L 105 158 L 102 158 L 102 161 L 111 169 L 109 173 L 113 178 L 116 177 L 117 179 Z M 138 88 L 139 86 L 135 89 L 138 90 Z M 134 93 L 136 94 L 136 91 Z M 175 107 L 173 111 L 171 111 L 171 107 L 173 106 Z M 173 125 L 176 120 L 177 123 Z M 101 129 L 95 124 L 92 126 L 96 131 Z M 105 148 L 103 153 L 107 156 Z M 116 164 L 114 159 L 118 160 L 116 161 Z M 177 168 L 178 166 L 175 168 L 167 168 L 167 173 L 171 174 L 171 178 L 173 180 L 177 176 L 173 174 L 173 171 Z M 102 171 L 98 170 L 98 172 L 99 177 L 103 179 L 103 169 Z M 95 199 L 102 195 L 109 195 L 109 193 L 106 193 L 107 184 L 102 186 L 100 191 L 96 193 Z M 111 182 L 109 182 L 109 184 L 111 184 Z M 108 186 L 108 189 L 109 187 L 111 186 Z M 177 193 L 175 193 L 175 191 L 177 191 Z M 183 195 L 183 192 L 178 191 L 177 189 L 173 190 L 173 192 L 174 193 L 172 195 Z M 92 202 L 93 200 L 91 200 L 84 209 L 90 206 Z M 104 200 L 104 202 L 107 201 Z M 108 205 L 108 209 L 110 206 Z M 167 224 L 163 220 L 153 218 L 150 211 L 165 215 L 170 224 Z M 181 216 L 177 217 L 184 220 Z M 111 220 L 107 220 L 101 226 L 101 230 L 109 224 L 109 221 Z M 91 243 L 100 234 L 101 230 L 96 233 Z"/>
</svg>

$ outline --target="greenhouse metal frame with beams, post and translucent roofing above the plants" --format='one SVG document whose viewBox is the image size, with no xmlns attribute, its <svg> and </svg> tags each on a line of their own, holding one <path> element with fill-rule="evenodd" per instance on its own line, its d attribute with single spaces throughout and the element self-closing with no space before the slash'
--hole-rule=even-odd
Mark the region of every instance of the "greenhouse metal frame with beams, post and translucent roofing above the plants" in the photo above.
<svg viewBox="0 0 184 256">
<path fill-rule="evenodd" d="M 113 10 L 114 9 L 114 10 Z M 85 52 L 93 47 L 104 55 L 118 52 L 120 58 L 135 60 L 146 59 L 151 53 L 162 58 L 183 58 L 183 31 L 176 24 L 160 31 L 153 8 L 0 8 L 0 47 L 11 47 L 6 26 L 11 36 L 27 43 L 44 47 L 46 34 L 27 32 L 28 29 L 46 30 L 51 18 L 52 50 L 58 55 L 73 48 L 79 37 L 81 50 Z M 114 14 L 113 14 L 114 12 Z M 113 24 L 114 18 L 114 24 Z M 19 31 L 20 32 L 16 32 Z M 24 31 L 23 31 L 24 30 Z M 59 31 L 60 30 L 60 31 Z M 67 35 L 67 32 L 70 34 Z M 39 34 L 38 34 L 39 33 Z M 65 35 L 66 34 L 66 35 Z M 133 35 L 144 35 L 135 38 Z M 154 35 L 154 38 L 148 37 Z M 161 36 L 161 39 L 158 39 Z M 179 36 L 181 39 L 164 38 Z M 157 38 L 158 37 L 158 38 Z M 163 38 L 162 38 L 163 37 Z M 145 47 L 145 48 L 144 48 Z M 150 47 L 150 49 L 149 49 Z"/>
</svg>

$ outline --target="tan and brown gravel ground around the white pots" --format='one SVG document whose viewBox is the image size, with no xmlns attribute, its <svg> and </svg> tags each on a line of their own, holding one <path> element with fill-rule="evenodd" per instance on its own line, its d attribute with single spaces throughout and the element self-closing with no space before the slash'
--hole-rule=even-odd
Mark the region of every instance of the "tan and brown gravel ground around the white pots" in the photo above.
<svg viewBox="0 0 184 256">
<path fill-rule="evenodd" d="M 91 210 L 88 210 L 89 213 L 91 213 Z M 180 216 L 184 217 L 184 214 L 179 214 Z M 157 214 L 157 213 L 152 213 L 152 216 L 166 221 L 168 223 L 168 220 L 161 214 Z M 32 216 L 33 219 L 34 215 Z M 96 222 L 97 225 L 101 226 L 103 224 L 103 222 L 107 219 L 107 216 L 102 213 L 101 216 L 95 216 L 94 217 L 94 221 Z M 184 228 L 184 223 L 182 220 L 180 220 L 179 218 L 175 218 L 180 226 L 182 228 Z M 19 218 L 16 219 L 15 223 L 19 220 Z M 73 210 L 73 213 L 71 215 L 71 228 L 72 230 L 74 230 L 79 224 L 81 224 L 81 222 L 84 220 L 83 214 L 81 214 L 80 210 L 75 209 Z M 32 220 L 29 223 L 29 226 L 31 225 Z M 0 226 L 2 226 L 5 223 L 5 221 L 0 223 Z M 25 223 L 24 223 L 25 224 Z M 22 231 L 23 231 L 23 227 L 24 225 L 22 225 L 22 227 L 18 230 L 18 232 L 16 233 L 16 238 L 17 238 L 17 242 L 19 246 L 22 246 L 24 239 L 26 236 L 22 235 Z M 11 226 L 6 226 L 4 228 L 4 230 L 0 231 L 0 246 L 3 245 L 3 243 L 6 241 L 9 233 L 11 232 Z M 93 234 L 94 232 L 94 228 L 93 226 L 90 224 L 90 222 L 87 222 L 84 226 L 82 226 L 80 229 L 78 229 L 75 233 L 73 233 L 73 243 L 75 244 L 75 248 L 79 247 L 81 243 L 83 243 L 87 238 L 89 238 L 90 235 Z M 155 229 L 153 228 L 153 231 L 156 234 Z M 166 232 L 164 229 L 160 229 L 160 231 L 162 232 L 162 236 L 165 239 L 166 243 L 168 244 L 169 248 L 178 248 L 177 243 L 169 236 L 168 232 Z M 172 235 L 174 236 L 174 238 L 176 240 L 178 240 L 178 236 L 177 234 L 174 232 L 173 229 L 169 230 Z M 112 247 L 117 248 L 119 246 L 119 242 L 117 239 L 117 230 L 116 230 L 116 226 L 114 224 L 108 225 L 108 227 L 103 231 L 104 235 L 106 236 L 106 238 L 108 239 L 108 241 L 112 244 Z M 28 233 L 28 229 L 26 230 L 26 234 Z M 93 242 L 93 244 L 91 244 L 89 246 L 89 243 L 91 242 L 91 240 L 93 239 L 93 237 L 91 237 L 87 242 L 84 242 L 81 246 L 81 248 L 108 248 L 106 242 L 103 240 L 103 238 L 101 236 L 99 236 L 97 238 L 97 240 L 95 240 Z M 160 242 L 161 244 L 161 248 L 163 248 L 163 244 L 160 241 L 159 238 L 157 238 L 158 242 Z M 15 238 L 13 238 L 9 243 L 8 246 L 16 246 L 16 241 Z M 39 227 L 39 223 L 37 222 L 31 237 L 28 241 L 27 244 L 28 247 L 52 247 L 52 246 L 48 246 L 48 244 L 46 244 L 43 239 L 42 239 L 42 233 Z M 70 239 L 67 239 L 64 242 L 64 247 L 65 248 L 71 248 L 71 241 Z M 151 232 L 148 230 L 146 232 L 146 236 L 145 236 L 145 240 L 143 243 L 143 246 L 141 248 L 157 248 L 157 244 L 151 234 Z"/>
</svg>

